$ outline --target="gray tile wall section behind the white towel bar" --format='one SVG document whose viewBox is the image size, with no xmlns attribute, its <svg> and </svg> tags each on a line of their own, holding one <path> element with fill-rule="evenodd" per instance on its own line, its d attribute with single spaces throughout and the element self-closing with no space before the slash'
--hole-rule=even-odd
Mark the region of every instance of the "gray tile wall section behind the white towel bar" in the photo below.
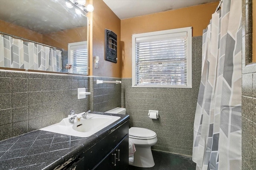
<svg viewBox="0 0 256 170">
<path fill-rule="evenodd" d="M 116 81 L 121 78 L 90 77 L 90 109 L 93 111 L 108 111 L 121 107 L 121 84 L 103 83 L 96 84 L 96 80 Z"/>
</svg>

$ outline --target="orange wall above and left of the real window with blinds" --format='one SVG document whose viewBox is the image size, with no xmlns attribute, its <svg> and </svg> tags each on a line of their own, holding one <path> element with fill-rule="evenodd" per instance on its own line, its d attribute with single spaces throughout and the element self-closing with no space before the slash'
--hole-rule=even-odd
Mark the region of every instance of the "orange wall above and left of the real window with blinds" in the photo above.
<svg viewBox="0 0 256 170">
<path fill-rule="evenodd" d="M 122 78 L 132 77 L 133 34 L 192 26 L 192 36 L 200 36 L 203 29 L 206 29 L 209 24 L 218 3 L 208 3 L 121 20 Z"/>
</svg>

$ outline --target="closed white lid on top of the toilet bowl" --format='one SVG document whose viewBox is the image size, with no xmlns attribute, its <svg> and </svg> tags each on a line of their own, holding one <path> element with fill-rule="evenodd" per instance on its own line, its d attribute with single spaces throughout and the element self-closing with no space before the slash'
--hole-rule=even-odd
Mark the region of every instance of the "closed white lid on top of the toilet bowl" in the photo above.
<svg viewBox="0 0 256 170">
<path fill-rule="evenodd" d="M 135 139 L 152 139 L 156 137 L 156 133 L 154 131 L 151 131 L 149 129 L 141 128 L 141 127 L 131 127 L 129 129 L 129 137 L 135 138 Z"/>
</svg>

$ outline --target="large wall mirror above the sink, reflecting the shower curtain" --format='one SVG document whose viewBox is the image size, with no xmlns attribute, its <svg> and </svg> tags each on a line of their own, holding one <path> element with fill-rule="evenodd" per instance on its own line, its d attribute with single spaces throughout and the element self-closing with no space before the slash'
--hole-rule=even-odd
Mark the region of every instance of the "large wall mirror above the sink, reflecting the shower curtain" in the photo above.
<svg viewBox="0 0 256 170">
<path fill-rule="evenodd" d="M 87 20 L 65 0 L 0 0 L 0 68 L 87 74 Z"/>
</svg>

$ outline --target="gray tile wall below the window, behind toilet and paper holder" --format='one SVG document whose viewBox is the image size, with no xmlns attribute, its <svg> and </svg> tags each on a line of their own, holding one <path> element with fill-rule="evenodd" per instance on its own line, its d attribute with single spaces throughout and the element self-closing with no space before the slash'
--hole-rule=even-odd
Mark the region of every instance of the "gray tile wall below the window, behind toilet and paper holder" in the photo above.
<svg viewBox="0 0 256 170">
<path fill-rule="evenodd" d="M 193 88 L 132 88 L 132 78 L 122 78 L 122 107 L 130 127 L 155 131 L 158 141 L 152 149 L 192 156 L 201 64 L 202 36 L 192 37 Z M 159 119 L 149 119 L 148 110 L 158 110 Z"/>
</svg>

